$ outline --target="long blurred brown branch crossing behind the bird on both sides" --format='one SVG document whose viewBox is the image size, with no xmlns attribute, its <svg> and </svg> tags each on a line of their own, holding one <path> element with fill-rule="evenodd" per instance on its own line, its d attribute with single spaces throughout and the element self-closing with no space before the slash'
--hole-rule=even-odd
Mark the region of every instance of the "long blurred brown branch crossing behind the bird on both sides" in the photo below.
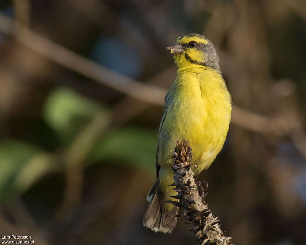
<svg viewBox="0 0 306 245">
<path fill-rule="evenodd" d="M 0 21 L 1 23 L 2 21 L 4 23 L 4 25 L 0 25 L 0 31 L 10 33 L 10 27 L 13 26 L 12 20 L 0 14 Z M 144 84 L 132 78 L 118 74 L 40 36 L 39 34 L 17 23 L 14 25 L 13 35 L 20 43 L 39 53 L 40 55 L 43 55 L 79 74 L 98 81 L 103 85 L 148 104 L 155 104 L 159 106 L 163 106 L 164 104 L 163 98 L 166 94 L 166 89 Z M 275 120 L 241 109 L 237 106 L 233 106 L 232 123 L 257 133 L 263 134 L 268 132 L 277 135 L 287 134 L 286 125 L 279 125 L 275 122 Z M 304 147 L 300 146 L 297 148 L 304 149 Z M 306 151 L 303 152 L 303 154 L 306 155 Z"/>
</svg>

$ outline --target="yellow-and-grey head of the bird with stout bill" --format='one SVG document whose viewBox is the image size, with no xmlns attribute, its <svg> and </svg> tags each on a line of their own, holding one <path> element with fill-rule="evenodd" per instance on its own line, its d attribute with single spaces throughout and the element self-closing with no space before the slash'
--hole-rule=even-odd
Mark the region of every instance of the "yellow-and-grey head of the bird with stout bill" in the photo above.
<svg viewBox="0 0 306 245">
<path fill-rule="evenodd" d="M 174 54 L 175 63 L 179 68 L 201 65 L 220 72 L 216 49 L 203 35 L 190 33 L 179 37 L 177 42 L 166 47 L 166 50 Z"/>
</svg>

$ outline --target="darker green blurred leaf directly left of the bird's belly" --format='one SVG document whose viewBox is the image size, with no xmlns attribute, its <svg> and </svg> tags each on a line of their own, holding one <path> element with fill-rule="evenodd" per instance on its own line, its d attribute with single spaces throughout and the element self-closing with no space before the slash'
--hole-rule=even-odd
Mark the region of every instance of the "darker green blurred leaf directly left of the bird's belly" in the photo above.
<svg viewBox="0 0 306 245">
<path fill-rule="evenodd" d="M 140 128 L 123 128 L 101 138 L 89 154 L 91 162 L 118 160 L 155 172 L 157 134 Z"/>
</svg>

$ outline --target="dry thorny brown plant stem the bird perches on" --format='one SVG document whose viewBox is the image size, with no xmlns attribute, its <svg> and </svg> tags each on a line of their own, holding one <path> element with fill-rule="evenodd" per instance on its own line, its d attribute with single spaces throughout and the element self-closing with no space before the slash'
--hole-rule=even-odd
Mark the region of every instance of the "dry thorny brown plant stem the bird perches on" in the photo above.
<svg viewBox="0 0 306 245">
<path fill-rule="evenodd" d="M 175 197 L 179 198 L 180 202 L 167 202 L 184 208 L 185 219 L 194 226 L 190 231 L 196 236 L 197 244 L 230 245 L 232 238 L 225 236 L 225 232 L 220 229 L 218 217 L 213 217 L 211 209 L 203 200 L 205 194 L 199 194 L 193 178 L 194 172 L 190 168 L 192 153 L 188 141 L 177 141 L 173 159 L 171 169 L 174 172 L 174 183 L 170 186 L 175 186 L 174 190 L 178 192 Z"/>
</svg>

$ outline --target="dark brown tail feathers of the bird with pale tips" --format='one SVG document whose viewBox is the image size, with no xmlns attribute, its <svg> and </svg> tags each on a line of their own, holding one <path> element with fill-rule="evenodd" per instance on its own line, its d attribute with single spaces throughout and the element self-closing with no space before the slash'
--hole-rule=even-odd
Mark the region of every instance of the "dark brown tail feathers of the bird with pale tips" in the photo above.
<svg viewBox="0 0 306 245">
<path fill-rule="evenodd" d="M 174 215 L 177 215 L 178 207 L 172 210 L 163 208 L 164 193 L 159 189 L 159 179 L 156 180 L 147 199 L 151 199 L 151 202 L 144 214 L 143 225 L 155 232 L 171 233 L 177 222 Z"/>
</svg>

